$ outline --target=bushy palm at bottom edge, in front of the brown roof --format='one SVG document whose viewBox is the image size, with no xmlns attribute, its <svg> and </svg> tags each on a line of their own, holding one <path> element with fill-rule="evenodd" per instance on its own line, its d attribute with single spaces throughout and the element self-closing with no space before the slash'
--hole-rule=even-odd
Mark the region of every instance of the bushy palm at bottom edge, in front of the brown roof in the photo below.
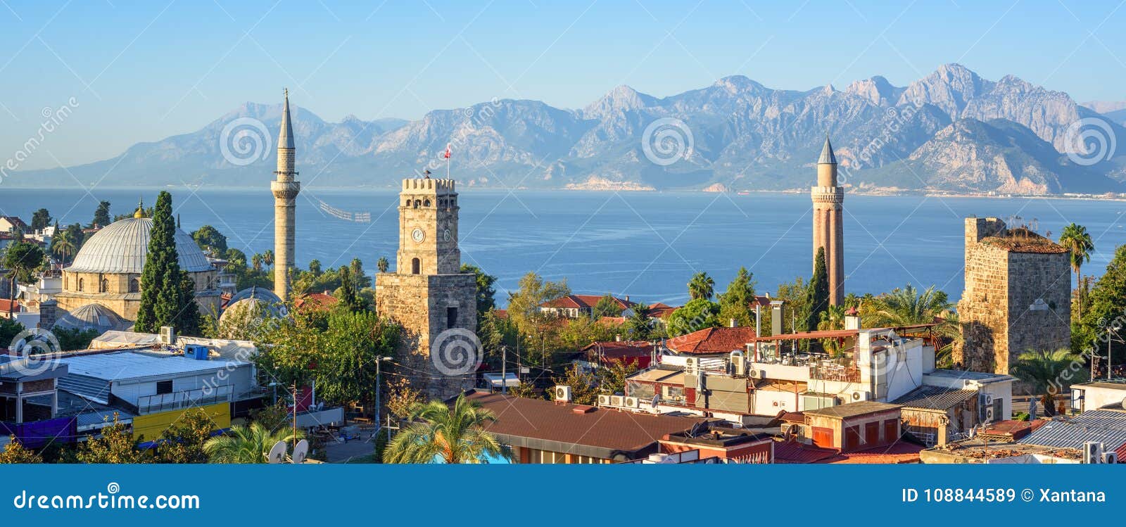
<svg viewBox="0 0 1126 527">
<path fill-rule="evenodd" d="M 488 463 L 486 456 L 509 458 L 497 440 L 485 431 L 497 418 L 475 401 L 458 395 L 453 405 L 441 401 L 415 404 L 415 420 L 403 428 L 383 450 L 386 463 Z M 421 420 L 419 420 L 421 419 Z"/>
</svg>

